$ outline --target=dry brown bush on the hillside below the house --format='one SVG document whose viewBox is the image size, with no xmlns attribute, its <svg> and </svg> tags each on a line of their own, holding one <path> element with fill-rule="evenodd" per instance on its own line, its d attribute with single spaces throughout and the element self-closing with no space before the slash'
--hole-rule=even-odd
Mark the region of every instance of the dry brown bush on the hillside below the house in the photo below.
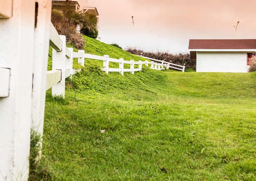
<svg viewBox="0 0 256 181">
<path fill-rule="evenodd" d="M 52 24 L 59 35 L 66 36 L 67 42 L 74 45 L 77 49 L 84 49 L 85 40 L 81 34 L 76 33 L 76 26 L 55 9 L 52 10 Z"/>
</svg>

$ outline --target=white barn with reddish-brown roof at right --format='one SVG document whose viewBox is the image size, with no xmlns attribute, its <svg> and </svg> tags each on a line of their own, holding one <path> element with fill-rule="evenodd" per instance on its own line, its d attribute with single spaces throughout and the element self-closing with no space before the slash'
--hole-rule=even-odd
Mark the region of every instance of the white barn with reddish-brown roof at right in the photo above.
<svg viewBox="0 0 256 181">
<path fill-rule="evenodd" d="M 248 72 L 256 39 L 189 40 L 189 51 L 196 72 Z"/>
</svg>

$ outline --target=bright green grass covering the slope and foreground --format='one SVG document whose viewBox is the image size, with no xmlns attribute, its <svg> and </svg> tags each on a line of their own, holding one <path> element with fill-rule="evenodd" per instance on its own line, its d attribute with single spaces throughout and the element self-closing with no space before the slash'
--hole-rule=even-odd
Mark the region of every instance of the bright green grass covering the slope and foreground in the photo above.
<svg viewBox="0 0 256 181">
<path fill-rule="evenodd" d="M 86 42 L 88 53 L 135 59 Z M 88 62 L 67 82 L 65 100 L 47 92 L 43 154 L 55 179 L 256 179 L 255 73 L 143 67 L 121 76 Z"/>
</svg>

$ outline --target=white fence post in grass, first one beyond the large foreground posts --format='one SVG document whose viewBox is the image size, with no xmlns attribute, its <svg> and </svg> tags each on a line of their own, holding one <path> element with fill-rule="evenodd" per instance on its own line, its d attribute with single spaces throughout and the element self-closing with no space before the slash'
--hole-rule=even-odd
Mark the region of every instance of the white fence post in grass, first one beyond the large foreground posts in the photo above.
<svg viewBox="0 0 256 181">
<path fill-rule="evenodd" d="M 52 70 L 61 70 L 61 81 L 52 86 L 52 96 L 65 98 L 65 59 L 66 59 L 66 36 L 60 35 L 62 51 L 52 49 Z"/>
</svg>

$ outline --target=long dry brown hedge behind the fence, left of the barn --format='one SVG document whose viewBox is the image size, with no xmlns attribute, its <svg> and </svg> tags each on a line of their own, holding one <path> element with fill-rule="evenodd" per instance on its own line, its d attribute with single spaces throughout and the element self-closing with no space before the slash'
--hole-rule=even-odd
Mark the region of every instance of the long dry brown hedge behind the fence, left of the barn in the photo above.
<svg viewBox="0 0 256 181">
<path fill-rule="evenodd" d="M 157 60 L 164 60 L 166 62 L 175 63 L 177 65 L 186 65 L 186 69 L 192 68 L 195 70 L 195 61 L 190 61 L 189 53 L 178 53 L 178 54 L 169 54 L 167 52 L 157 51 L 150 52 L 144 51 L 137 47 L 127 47 L 126 51 L 130 52 L 131 54 L 136 55 L 143 55 L 149 58 L 155 58 Z"/>
</svg>

